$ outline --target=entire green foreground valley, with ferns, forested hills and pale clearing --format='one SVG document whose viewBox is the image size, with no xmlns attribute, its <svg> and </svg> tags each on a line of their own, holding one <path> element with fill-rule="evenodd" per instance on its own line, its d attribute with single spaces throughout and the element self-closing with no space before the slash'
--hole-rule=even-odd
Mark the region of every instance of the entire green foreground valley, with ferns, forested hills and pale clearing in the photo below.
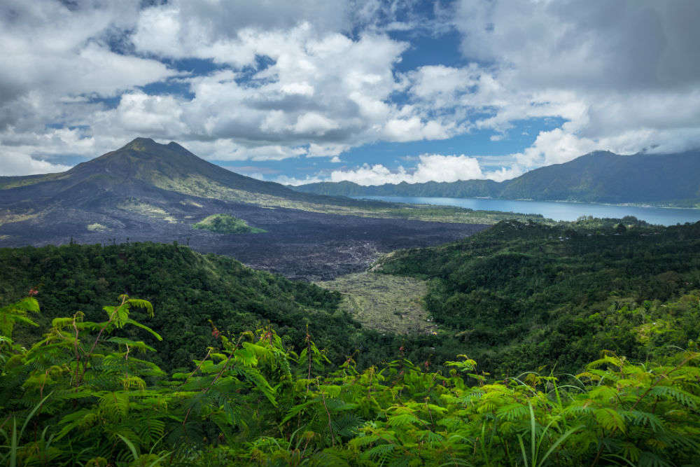
<svg viewBox="0 0 700 467">
<path fill-rule="evenodd" d="M 335 291 L 176 244 L 1 249 L 0 460 L 696 465 L 699 229 L 503 221 Z"/>
</svg>

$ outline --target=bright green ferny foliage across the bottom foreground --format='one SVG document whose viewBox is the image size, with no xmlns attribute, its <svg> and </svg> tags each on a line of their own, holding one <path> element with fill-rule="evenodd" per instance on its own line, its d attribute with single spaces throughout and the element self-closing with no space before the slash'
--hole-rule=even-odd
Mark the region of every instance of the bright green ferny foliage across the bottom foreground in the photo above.
<svg viewBox="0 0 700 467">
<path fill-rule="evenodd" d="M 0 420 L 0 456 L 15 446 L 23 465 L 700 465 L 692 354 L 662 365 L 606 354 L 573 384 L 474 379 L 468 360 L 447 375 L 405 359 L 327 372 L 310 337 L 295 354 L 265 327 L 219 337 L 169 377 L 137 358 L 152 349 L 134 333 L 150 331 L 123 318 L 145 305 L 122 300 L 105 323 L 75 314 L 27 351 L 0 346 L 7 420 L 36 423 L 29 435 Z"/>
</svg>

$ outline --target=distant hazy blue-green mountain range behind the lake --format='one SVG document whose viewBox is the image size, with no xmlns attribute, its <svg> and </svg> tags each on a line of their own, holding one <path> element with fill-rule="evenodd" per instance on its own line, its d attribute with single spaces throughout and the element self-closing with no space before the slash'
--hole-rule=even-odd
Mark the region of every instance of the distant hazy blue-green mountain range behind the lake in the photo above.
<svg viewBox="0 0 700 467">
<path fill-rule="evenodd" d="M 700 151 L 636 155 L 596 151 L 500 183 L 467 180 L 360 186 L 342 181 L 291 188 L 330 196 L 491 197 L 697 207 L 700 206 Z"/>
</svg>

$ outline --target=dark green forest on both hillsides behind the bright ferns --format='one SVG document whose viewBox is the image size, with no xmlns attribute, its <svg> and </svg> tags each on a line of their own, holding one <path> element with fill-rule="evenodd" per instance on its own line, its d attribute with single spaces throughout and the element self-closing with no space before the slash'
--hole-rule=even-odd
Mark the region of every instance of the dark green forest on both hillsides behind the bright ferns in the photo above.
<svg viewBox="0 0 700 467">
<path fill-rule="evenodd" d="M 634 323 L 610 324 L 605 316 L 657 309 L 700 289 L 699 229 L 634 218 L 504 221 L 461 242 L 381 260 L 375 268 L 381 272 L 430 279 L 425 304 L 442 326 L 437 335 L 362 328 L 338 309 L 337 293 L 175 244 L 0 249 L 0 305 L 36 288 L 48 323 L 66 309 L 92 318 L 101 313 L 102 297 L 145 298 L 161 311 L 144 319 L 167 337 L 149 342 L 165 368 L 188 365 L 214 342 L 213 324 L 237 333 L 271 323 L 293 349 L 308 325 L 335 364 L 353 356 L 365 368 L 400 354 L 440 364 L 469 354 L 494 375 L 540 367 L 575 372 L 601 349 L 645 357 L 629 330 Z M 684 347 L 697 337 L 687 326 L 678 342 Z"/>
</svg>

